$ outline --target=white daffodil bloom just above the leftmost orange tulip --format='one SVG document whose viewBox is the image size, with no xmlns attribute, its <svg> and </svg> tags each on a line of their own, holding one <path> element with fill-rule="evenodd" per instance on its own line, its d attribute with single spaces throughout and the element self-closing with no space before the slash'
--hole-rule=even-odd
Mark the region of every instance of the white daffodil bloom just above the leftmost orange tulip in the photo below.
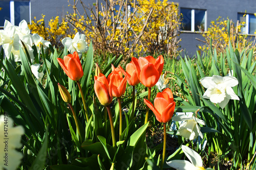
<svg viewBox="0 0 256 170">
<path fill-rule="evenodd" d="M 76 33 L 74 39 L 66 37 L 61 40 L 62 44 L 67 46 L 68 51 L 73 54 L 75 51 L 78 53 L 79 57 L 82 53 L 88 50 L 88 44 L 86 42 L 86 35 Z"/>
</svg>

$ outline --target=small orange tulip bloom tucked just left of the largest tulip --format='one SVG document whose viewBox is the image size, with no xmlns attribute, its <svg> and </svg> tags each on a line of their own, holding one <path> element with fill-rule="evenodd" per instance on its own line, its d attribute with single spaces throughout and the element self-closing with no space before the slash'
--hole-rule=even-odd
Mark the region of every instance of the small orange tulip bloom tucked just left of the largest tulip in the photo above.
<svg viewBox="0 0 256 170">
<path fill-rule="evenodd" d="M 140 80 L 138 79 L 137 72 L 136 72 L 136 66 L 131 61 L 130 63 L 126 64 L 126 71 L 119 66 L 120 70 L 122 71 L 124 76 L 127 76 L 127 82 L 131 86 L 136 86 L 140 83 Z"/>
</svg>

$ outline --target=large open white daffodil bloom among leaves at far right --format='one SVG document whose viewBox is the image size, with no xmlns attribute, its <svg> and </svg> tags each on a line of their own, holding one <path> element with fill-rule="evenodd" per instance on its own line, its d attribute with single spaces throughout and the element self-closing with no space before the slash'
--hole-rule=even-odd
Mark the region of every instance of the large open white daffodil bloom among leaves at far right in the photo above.
<svg viewBox="0 0 256 170">
<path fill-rule="evenodd" d="M 201 84 L 207 88 L 203 98 L 210 99 L 212 103 L 217 103 L 223 109 L 230 99 L 239 100 L 232 87 L 238 85 L 238 80 L 231 76 L 204 77 Z"/>
</svg>

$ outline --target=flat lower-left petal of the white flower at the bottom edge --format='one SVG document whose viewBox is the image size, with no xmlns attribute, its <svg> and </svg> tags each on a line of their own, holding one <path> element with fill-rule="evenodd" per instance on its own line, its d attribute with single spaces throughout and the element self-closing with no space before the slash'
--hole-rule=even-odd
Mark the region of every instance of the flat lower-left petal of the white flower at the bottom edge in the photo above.
<svg viewBox="0 0 256 170">
<path fill-rule="evenodd" d="M 172 161 L 169 161 L 169 162 L 166 162 L 166 163 L 170 167 L 173 167 L 173 168 L 179 169 L 179 170 L 187 170 L 187 169 L 189 169 L 189 170 L 198 170 L 198 168 L 196 166 L 194 166 L 192 163 L 190 163 L 187 160 L 172 160 Z"/>
</svg>

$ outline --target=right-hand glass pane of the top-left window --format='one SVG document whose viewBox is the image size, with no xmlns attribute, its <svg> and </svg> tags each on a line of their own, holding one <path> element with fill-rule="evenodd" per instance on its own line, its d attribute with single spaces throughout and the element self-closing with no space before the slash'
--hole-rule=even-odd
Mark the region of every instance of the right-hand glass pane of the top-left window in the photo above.
<svg viewBox="0 0 256 170">
<path fill-rule="evenodd" d="M 19 22 L 25 19 L 27 22 L 30 21 L 29 17 L 29 2 L 14 2 L 14 22 L 18 26 Z"/>
</svg>

